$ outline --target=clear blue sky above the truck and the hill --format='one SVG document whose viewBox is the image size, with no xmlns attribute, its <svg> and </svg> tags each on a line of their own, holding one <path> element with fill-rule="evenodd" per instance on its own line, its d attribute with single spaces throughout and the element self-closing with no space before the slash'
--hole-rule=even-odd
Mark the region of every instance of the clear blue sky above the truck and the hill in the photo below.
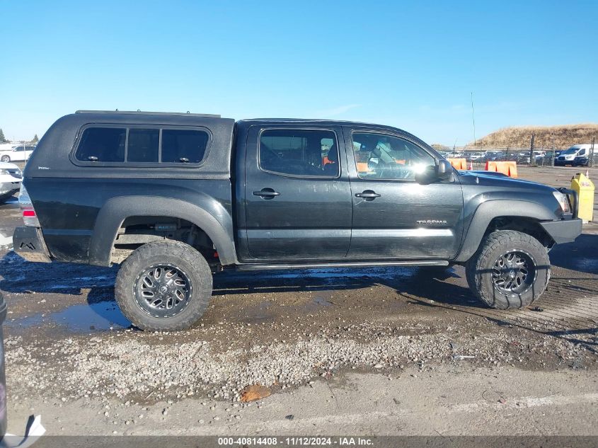
<svg viewBox="0 0 598 448">
<path fill-rule="evenodd" d="M 77 109 L 314 117 L 465 144 L 598 121 L 598 1 L 0 0 L 0 128 Z"/>
</svg>

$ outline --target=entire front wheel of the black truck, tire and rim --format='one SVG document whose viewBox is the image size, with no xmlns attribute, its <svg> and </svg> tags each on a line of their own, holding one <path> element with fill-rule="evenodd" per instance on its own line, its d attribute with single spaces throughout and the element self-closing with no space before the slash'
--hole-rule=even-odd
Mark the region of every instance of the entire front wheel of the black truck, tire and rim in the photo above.
<svg viewBox="0 0 598 448">
<path fill-rule="evenodd" d="M 533 236 L 494 231 L 467 262 L 466 277 L 478 299 L 497 309 L 517 309 L 538 299 L 550 278 L 548 252 Z"/>
</svg>

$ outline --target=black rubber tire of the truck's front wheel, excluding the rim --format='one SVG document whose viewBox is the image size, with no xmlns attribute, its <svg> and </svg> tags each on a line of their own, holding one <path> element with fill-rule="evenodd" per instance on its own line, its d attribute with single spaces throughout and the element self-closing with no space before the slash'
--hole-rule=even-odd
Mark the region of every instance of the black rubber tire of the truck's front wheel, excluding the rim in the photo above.
<svg viewBox="0 0 598 448">
<path fill-rule="evenodd" d="M 535 278 L 529 289 L 524 292 L 504 294 L 495 287 L 493 267 L 501 255 L 514 251 L 529 255 L 533 260 Z M 496 309 L 529 306 L 541 296 L 550 279 L 550 259 L 546 248 L 533 236 L 514 230 L 494 231 L 485 236 L 478 251 L 468 260 L 465 269 L 467 283 L 473 294 Z"/>
</svg>

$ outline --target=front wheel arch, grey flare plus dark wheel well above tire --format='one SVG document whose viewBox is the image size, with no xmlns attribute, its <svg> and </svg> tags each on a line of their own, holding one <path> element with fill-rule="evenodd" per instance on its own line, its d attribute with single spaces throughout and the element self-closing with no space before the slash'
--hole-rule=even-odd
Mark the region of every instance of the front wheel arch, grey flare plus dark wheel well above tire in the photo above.
<svg viewBox="0 0 598 448">
<path fill-rule="evenodd" d="M 540 225 L 543 221 L 558 219 L 548 207 L 524 200 L 490 200 L 478 206 L 464 234 L 463 243 L 455 261 L 464 263 L 476 253 L 489 231 L 518 230 L 539 239 L 545 246 L 554 241 Z"/>
</svg>

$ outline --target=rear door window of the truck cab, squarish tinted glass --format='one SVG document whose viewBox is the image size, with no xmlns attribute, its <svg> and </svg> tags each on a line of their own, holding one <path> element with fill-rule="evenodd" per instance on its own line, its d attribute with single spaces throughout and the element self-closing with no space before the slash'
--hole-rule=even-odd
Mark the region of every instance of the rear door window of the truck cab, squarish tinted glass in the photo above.
<svg viewBox="0 0 598 448">
<path fill-rule="evenodd" d="M 340 173 L 336 135 L 328 130 L 264 130 L 260 168 L 287 175 L 336 178 Z"/>
</svg>

